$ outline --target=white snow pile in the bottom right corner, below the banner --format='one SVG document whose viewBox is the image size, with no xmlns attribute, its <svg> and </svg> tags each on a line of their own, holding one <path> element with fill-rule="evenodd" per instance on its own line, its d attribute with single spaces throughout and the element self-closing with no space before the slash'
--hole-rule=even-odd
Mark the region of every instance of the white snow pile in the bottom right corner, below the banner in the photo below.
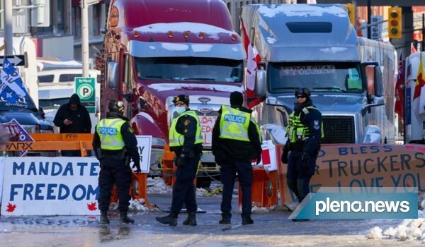
<svg viewBox="0 0 425 247">
<path fill-rule="evenodd" d="M 404 219 L 397 227 L 390 227 L 383 231 L 380 227 L 374 227 L 368 231 L 366 237 L 368 239 L 398 239 L 420 240 L 425 243 L 425 210 L 418 212 L 418 219 Z"/>
</svg>

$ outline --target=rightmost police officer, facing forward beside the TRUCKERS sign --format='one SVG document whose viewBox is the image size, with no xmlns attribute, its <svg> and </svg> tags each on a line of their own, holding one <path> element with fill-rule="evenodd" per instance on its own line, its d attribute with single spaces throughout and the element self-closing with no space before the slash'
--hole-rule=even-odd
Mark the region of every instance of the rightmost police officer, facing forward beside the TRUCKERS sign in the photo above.
<svg viewBox="0 0 425 247">
<path fill-rule="evenodd" d="M 320 139 L 323 138 L 322 113 L 314 107 L 310 96 L 310 90 L 307 88 L 295 91 L 297 102 L 294 103 L 294 110 L 289 116 L 286 128 L 288 141 L 281 157 L 282 162 L 288 164 L 288 187 L 295 193 L 299 203 L 310 192 L 310 179 L 316 167 Z"/>
</svg>

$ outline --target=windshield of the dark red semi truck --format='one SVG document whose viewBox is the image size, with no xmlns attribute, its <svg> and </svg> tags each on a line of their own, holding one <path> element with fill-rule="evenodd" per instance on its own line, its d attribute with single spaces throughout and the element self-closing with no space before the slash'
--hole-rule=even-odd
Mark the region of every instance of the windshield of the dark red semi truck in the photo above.
<svg viewBox="0 0 425 247">
<path fill-rule="evenodd" d="M 184 80 L 241 83 L 243 61 L 205 57 L 135 57 L 137 77 L 147 80 Z"/>
</svg>

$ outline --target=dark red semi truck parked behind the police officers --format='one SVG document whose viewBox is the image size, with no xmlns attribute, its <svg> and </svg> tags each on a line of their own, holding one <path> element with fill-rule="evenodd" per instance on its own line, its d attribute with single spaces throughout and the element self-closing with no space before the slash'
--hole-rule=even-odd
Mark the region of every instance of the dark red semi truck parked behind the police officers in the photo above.
<svg viewBox="0 0 425 247">
<path fill-rule="evenodd" d="M 171 100 L 190 95 L 190 108 L 203 128 L 203 167 L 217 171 L 210 151 L 212 126 L 220 106 L 229 104 L 230 92 L 244 93 L 246 57 L 225 4 L 113 0 L 104 33 L 101 115 L 106 116 L 109 100 L 124 99 L 135 133 L 152 135 L 151 167 L 161 167 L 161 151 L 177 116 Z"/>
</svg>

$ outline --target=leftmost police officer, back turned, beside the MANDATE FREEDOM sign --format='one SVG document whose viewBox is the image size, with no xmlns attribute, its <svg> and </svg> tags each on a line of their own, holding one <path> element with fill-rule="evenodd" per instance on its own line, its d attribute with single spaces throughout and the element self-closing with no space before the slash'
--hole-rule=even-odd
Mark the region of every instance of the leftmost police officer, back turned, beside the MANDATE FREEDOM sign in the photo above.
<svg viewBox="0 0 425 247">
<path fill-rule="evenodd" d="M 96 157 L 101 162 L 98 199 L 101 210 L 100 223 L 109 224 L 108 208 L 115 183 L 118 188 L 120 224 L 133 224 L 135 221 L 127 216 L 132 180 L 132 169 L 129 164 L 131 157 L 134 162 L 133 168 L 136 168 L 136 172 L 140 172 L 137 140 L 129 120 L 123 116 L 123 102 L 111 100 L 108 109 L 106 119 L 102 119 L 97 124 L 93 139 Z"/>
</svg>

